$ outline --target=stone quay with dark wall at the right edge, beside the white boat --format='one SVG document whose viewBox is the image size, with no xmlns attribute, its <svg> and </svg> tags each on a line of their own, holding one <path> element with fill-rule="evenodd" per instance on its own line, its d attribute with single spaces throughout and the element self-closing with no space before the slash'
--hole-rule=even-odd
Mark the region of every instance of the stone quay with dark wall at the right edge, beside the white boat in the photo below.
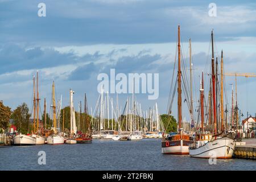
<svg viewBox="0 0 256 182">
<path fill-rule="evenodd" d="M 256 138 L 242 139 L 237 142 L 234 150 L 234 158 L 256 159 Z"/>
</svg>

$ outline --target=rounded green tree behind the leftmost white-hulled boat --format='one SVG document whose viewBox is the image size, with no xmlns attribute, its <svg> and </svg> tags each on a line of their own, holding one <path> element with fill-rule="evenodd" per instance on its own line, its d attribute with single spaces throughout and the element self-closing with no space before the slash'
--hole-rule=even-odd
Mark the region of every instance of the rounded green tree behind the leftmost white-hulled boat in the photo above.
<svg viewBox="0 0 256 182">
<path fill-rule="evenodd" d="M 11 118 L 14 120 L 19 133 L 28 132 L 30 128 L 30 114 L 26 103 L 23 102 L 23 104 L 16 107 L 13 114 L 11 114 Z"/>
</svg>

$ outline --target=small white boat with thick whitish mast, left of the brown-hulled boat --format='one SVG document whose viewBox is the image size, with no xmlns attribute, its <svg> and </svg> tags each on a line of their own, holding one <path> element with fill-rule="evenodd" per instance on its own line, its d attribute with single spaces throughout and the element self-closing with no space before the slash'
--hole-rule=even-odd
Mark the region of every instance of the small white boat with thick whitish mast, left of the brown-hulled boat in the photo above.
<svg viewBox="0 0 256 182">
<path fill-rule="evenodd" d="M 73 94 L 75 92 L 70 89 L 70 131 L 69 138 L 66 140 L 66 144 L 75 144 L 76 143 L 76 118 L 75 118 L 75 109 L 73 107 Z"/>
</svg>

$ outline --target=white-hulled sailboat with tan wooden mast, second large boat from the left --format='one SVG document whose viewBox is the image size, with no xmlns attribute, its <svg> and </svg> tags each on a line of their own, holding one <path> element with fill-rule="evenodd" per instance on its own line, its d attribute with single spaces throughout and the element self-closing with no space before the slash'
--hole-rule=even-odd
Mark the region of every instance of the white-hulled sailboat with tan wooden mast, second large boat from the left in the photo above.
<svg viewBox="0 0 256 182">
<path fill-rule="evenodd" d="M 53 111 L 53 135 L 47 137 L 47 144 L 64 144 L 64 137 L 57 134 L 56 130 L 56 102 L 55 102 L 55 85 L 52 83 L 52 111 Z"/>
</svg>

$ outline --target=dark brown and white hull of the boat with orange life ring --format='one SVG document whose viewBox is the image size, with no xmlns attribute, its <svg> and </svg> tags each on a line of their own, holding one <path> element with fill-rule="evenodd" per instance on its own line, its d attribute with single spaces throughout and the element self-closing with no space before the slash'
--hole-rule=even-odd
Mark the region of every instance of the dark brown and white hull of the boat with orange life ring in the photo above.
<svg viewBox="0 0 256 182">
<path fill-rule="evenodd" d="M 174 140 L 162 142 L 162 154 L 188 155 L 189 140 Z"/>
</svg>

